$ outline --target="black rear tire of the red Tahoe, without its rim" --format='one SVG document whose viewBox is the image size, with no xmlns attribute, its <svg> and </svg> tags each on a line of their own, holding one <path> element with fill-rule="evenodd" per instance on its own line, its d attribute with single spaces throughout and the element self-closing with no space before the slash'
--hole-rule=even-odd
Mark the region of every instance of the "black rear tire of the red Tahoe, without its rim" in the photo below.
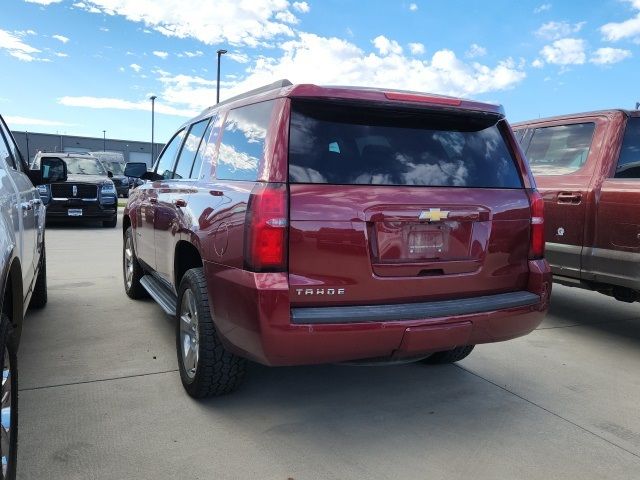
<svg viewBox="0 0 640 480">
<path fill-rule="evenodd" d="M 189 374 L 184 364 L 181 326 L 183 302 L 188 301 L 189 291 L 197 312 L 197 352 L 195 374 Z M 182 385 L 194 398 L 225 395 L 236 390 L 245 376 L 247 361 L 227 351 L 222 345 L 213 324 L 213 316 L 207 295 L 207 281 L 202 268 L 192 268 L 182 277 L 178 290 L 176 309 L 176 350 Z M 195 349 L 194 349 L 195 351 Z"/>
</svg>

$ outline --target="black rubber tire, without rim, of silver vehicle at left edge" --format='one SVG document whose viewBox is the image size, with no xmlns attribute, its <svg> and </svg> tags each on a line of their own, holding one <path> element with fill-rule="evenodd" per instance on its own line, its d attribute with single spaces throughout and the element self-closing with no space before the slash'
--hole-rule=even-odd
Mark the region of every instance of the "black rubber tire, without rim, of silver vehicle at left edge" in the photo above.
<svg viewBox="0 0 640 480">
<path fill-rule="evenodd" d="M 11 323 L 5 314 L 1 314 L 0 319 L 0 366 L 5 367 L 5 355 L 9 356 L 9 386 L 11 392 L 7 392 L 5 387 L 5 376 L 2 376 L 2 408 L 3 410 L 9 406 L 8 400 L 11 400 L 11 414 L 7 416 L 3 415 L 2 429 L 4 430 L 7 425 L 4 421 L 9 418 L 11 422 L 11 428 L 9 428 L 8 437 L 8 452 L 5 452 L 5 447 L 0 446 L 0 456 L 6 460 L 6 473 L 0 470 L 0 479 L 3 480 L 15 480 L 16 478 L 16 465 L 18 461 L 18 363 L 17 355 L 14 343 L 11 341 Z M 5 397 L 5 394 L 8 393 Z M 4 436 L 5 432 L 2 432 Z"/>
</svg>

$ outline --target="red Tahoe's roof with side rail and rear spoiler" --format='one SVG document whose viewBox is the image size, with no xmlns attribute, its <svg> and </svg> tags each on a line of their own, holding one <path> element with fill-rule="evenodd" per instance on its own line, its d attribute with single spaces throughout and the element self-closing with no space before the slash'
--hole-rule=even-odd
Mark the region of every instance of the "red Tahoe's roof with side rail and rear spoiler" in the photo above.
<svg viewBox="0 0 640 480">
<path fill-rule="evenodd" d="M 196 117 L 196 119 L 205 118 L 223 106 L 233 108 L 280 97 L 361 100 L 377 103 L 401 102 L 413 105 L 431 105 L 443 109 L 455 108 L 504 115 L 504 108 L 502 105 L 448 97 L 444 95 L 397 90 L 393 88 L 321 86 L 313 84 L 294 85 L 288 80 L 279 80 L 272 84 L 231 97 L 217 105 L 213 105 L 205 109 L 198 117 Z M 187 122 L 187 124 L 192 122 L 193 120 Z"/>
</svg>

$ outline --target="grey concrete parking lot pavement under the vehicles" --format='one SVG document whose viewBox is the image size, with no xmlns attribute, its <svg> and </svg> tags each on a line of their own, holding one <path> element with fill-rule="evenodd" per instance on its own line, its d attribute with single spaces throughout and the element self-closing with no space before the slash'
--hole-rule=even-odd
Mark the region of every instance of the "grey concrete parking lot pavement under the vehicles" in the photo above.
<svg viewBox="0 0 640 480">
<path fill-rule="evenodd" d="M 252 366 L 194 401 L 172 319 L 125 296 L 121 230 L 47 230 L 20 350 L 21 479 L 638 479 L 640 305 L 556 286 L 457 366 Z"/>
</svg>

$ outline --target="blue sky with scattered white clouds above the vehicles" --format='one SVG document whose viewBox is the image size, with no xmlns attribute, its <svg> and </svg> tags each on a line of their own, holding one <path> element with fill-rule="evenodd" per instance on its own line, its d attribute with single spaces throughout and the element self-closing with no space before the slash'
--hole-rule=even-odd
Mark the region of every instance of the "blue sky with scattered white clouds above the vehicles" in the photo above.
<svg viewBox="0 0 640 480">
<path fill-rule="evenodd" d="M 512 122 L 640 101 L 640 0 L 3 0 L 15 130 L 156 139 L 221 98 L 294 83 L 499 102 Z M 579 5 L 579 8 L 577 6 Z"/>
</svg>

